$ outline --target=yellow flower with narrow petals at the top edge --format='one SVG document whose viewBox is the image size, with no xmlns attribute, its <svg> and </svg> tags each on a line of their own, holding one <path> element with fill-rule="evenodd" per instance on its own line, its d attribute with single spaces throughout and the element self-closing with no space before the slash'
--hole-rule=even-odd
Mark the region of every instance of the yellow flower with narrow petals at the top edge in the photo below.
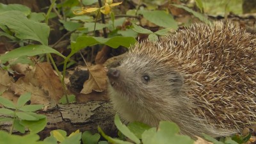
<svg viewBox="0 0 256 144">
<path fill-rule="evenodd" d="M 90 12 L 95 12 L 97 10 L 100 10 L 101 13 L 107 15 L 108 13 L 110 13 L 111 7 L 118 6 L 119 4 L 122 4 L 122 2 L 113 3 L 113 0 L 105 0 L 105 5 L 102 6 L 101 8 L 87 8 L 87 9 L 85 9 L 84 7 L 82 7 L 81 9 L 74 10 L 73 13 L 75 15 L 83 15 L 84 13 L 90 13 Z"/>
</svg>

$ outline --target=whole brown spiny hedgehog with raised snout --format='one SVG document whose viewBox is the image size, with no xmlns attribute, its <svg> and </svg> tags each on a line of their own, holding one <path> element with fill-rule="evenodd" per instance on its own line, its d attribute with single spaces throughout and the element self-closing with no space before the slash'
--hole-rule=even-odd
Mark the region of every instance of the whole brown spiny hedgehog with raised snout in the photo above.
<svg viewBox="0 0 256 144">
<path fill-rule="evenodd" d="M 256 120 L 255 63 L 255 35 L 230 22 L 193 24 L 132 46 L 109 68 L 108 93 L 126 122 L 230 136 Z"/>
</svg>

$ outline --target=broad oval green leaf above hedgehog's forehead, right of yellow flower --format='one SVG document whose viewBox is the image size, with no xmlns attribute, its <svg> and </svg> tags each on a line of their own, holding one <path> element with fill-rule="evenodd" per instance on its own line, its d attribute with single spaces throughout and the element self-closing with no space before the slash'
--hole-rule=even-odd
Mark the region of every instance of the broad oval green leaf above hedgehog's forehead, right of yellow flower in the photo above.
<svg viewBox="0 0 256 144">
<path fill-rule="evenodd" d="M 170 13 L 166 13 L 162 10 L 139 10 L 138 13 L 142 14 L 145 19 L 153 22 L 157 26 L 162 26 L 163 28 L 178 29 L 178 24 L 173 19 L 172 15 L 170 15 Z"/>
</svg>

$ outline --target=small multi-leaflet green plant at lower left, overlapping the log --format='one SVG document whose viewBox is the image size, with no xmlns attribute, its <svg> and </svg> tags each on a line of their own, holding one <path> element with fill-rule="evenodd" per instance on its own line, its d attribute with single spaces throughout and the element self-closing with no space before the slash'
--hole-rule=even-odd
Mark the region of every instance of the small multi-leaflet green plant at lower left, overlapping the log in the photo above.
<svg viewBox="0 0 256 144">
<path fill-rule="evenodd" d="M 12 134 L 13 129 L 24 133 L 26 127 L 31 133 L 37 133 L 44 129 L 47 123 L 46 116 L 35 113 L 35 111 L 42 109 L 44 105 L 26 105 L 26 102 L 30 99 L 31 93 L 20 95 L 17 104 L 0 97 L 0 104 L 4 106 L 4 108 L 0 108 L 0 113 L 4 115 L 0 117 L 0 122 L 12 121 L 10 134 Z"/>
</svg>

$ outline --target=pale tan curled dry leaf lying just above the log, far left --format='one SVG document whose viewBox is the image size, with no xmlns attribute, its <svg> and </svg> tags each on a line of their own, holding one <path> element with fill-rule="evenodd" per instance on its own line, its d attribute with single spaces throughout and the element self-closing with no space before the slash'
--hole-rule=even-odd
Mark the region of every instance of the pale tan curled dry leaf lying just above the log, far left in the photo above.
<svg viewBox="0 0 256 144">
<path fill-rule="evenodd" d="M 10 89 L 15 92 L 16 95 L 22 95 L 22 93 L 31 92 L 31 104 L 49 104 L 50 97 L 48 93 L 44 92 L 42 88 L 33 86 L 28 83 L 11 83 Z"/>
</svg>

